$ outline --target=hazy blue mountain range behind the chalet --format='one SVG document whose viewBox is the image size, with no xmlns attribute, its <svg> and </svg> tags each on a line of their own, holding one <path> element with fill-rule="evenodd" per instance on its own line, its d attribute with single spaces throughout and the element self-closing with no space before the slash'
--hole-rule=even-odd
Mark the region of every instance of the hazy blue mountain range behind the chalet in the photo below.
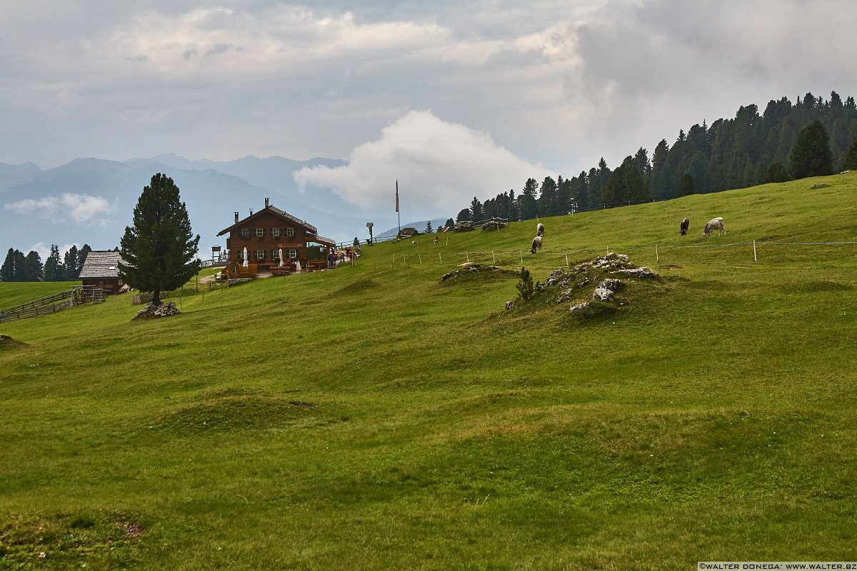
<svg viewBox="0 0 857 571">
<path fill-rule="evenodd" d="M 84 243 L 95 250 L 117 247 L 125 227 L 133 223 L 143 187 L 156 173 L 170 176 L 179 187 L 193 231 L 201 236 L 201 258 L 207 258 L 210 247 L 225 246 L 225 236 L 218 233 L 234 222 L 233 212 L 247 217 L 251 210 L 264 207 L 266 198 L 335 241 L 369 237 L 369 221 L 375 223 L 376 236 L 390 231 L 379 232 L 382 228 L 394 233 L 394 213 L 377 217 L 346 203 L 333 191 L 302 191 L 293 177 L 304 167 L 342 164 L 333 158 L 245 157 L 218 162 L 173 154 L 123 162 L 77 158 L 48 170 L 33 163 L 0 163 L 0 248 L 3 252 L 13 247 L 25 253 L 30 249 L 44 253 L 51 244 L 61 249 Z M 422 231 L 426 222 L 402 226 Z M 436 220 L 432 225 L 436 227 Z"/>
</svg>

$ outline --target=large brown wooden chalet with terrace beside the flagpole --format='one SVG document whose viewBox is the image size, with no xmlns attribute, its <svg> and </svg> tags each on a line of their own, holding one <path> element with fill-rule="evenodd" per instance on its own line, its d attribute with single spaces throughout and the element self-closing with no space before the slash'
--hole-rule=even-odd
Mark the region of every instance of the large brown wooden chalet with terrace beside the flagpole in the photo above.
<svg viewBox="0 0 857 571">
<path fill-rule="evenodd" d="M 225 234 L 229 235 L 226 238 L 227 265 L 238 273 L 285 273 L 293 270 L 297 263 L 306 270 L 325 269 L 327 254 L 336 247 L 336 242 L 318 235 L 315 226 L 270 205 L 268 199 L 265 199 L 265 208 L 250 211 L 250 216 L 243 220 L 239 220 L 235 212 L 235 223 L 218 235 Z M 245 251 L 246 266 L 243 265 Z"/>
</svg>

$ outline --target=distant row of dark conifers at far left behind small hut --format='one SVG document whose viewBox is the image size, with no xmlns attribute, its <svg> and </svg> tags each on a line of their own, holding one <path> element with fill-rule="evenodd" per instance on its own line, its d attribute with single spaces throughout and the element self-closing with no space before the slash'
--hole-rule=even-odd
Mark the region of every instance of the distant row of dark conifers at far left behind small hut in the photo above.
<svg viewBox="0 0 857 571">
<path fill-rule="evenodd" d="M 88 244 L 80 250 L 76 246 L 60 257 L 59 247 L 51 244 L 51 254 L 42 264 L 41 256 L 35 250 L 24 255 L 20 250 L 9 248 L 6 259 L 0 266 L 0 282 L 68 282 L 81 275 L 87 254 L 92 252 Z"/>
</svg>

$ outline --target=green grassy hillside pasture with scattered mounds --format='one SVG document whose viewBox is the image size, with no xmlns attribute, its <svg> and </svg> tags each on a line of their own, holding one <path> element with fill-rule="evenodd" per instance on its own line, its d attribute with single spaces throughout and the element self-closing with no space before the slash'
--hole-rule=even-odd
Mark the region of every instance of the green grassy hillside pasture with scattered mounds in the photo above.
<svg viewBox="0 0 857 571">
<path fill-rule="evenodd" d="M 855 192 L 548 218 L 536 255 L 533 222 L 418 236 L 186 288 L 173 318 L 117 296 L 0 325 L 0 568 L 854 561 L 857 257 L 807 242 L 854 241 Z M 608 250 L 660 280 L 591 318 L 504 308 L 522 262 Z M 508 272 L 441 280 L 466 261 Z"/>
</svg>

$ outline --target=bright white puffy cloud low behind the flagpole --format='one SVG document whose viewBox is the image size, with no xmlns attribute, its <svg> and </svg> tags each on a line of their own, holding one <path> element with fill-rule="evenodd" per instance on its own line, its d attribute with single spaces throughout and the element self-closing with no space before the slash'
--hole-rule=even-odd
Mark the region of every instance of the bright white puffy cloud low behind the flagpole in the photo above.
<svg viewBox="0 0 857 571">
<path fill-rule="evenodd" d="M 381 131 L 381 138 L 357 146 L 348 164 L 304 168 L 300 187 L 327 187 L 362 208 L 393 211 L 396 181 L 401 210 L 455 215 L 470 197 L 494 197 L 527 178 L 546 175 L 498 146 L 491 137 L 444 122 L 428 110 L 414 110 Z M 454 210 L 454 212 L 452 212 Z"/>
</svg>

